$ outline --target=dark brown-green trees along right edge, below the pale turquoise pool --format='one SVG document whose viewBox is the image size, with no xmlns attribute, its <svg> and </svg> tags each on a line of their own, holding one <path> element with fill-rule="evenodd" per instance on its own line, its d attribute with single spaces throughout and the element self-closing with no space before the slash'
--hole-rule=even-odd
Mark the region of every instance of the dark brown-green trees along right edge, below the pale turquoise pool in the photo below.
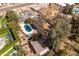
<svg viewBox="0 0 79 59">
<path fill-rule="evenodd" d="M 79 17 L 73 17 L 71 21 L 71 35 L 70 39 L 79 42 Z"/>
</svg>

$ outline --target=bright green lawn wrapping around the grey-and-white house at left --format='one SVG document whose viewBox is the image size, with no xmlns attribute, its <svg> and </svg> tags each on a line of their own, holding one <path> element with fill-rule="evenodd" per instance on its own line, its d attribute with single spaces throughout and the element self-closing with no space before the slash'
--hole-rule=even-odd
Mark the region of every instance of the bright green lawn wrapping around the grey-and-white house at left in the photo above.
<svg viewBox="0 0 79 59">
<path fill-rule="evenodd" d="M 5 20 L 3 20 L 2 22 L 3 22 L 3 24 L 6 23 Z M 18 34 L 17 34 L 17 30 L 16 30 L 17 27 L 15 27 L 16 25 L 12 25 L 12 23 L 14 23 L 14 22 L 9 23 L 8 25 L 9 25 L 10 29 L 12 30 L 12 33 L 13 33 L 13 35 L 14 35 L 16 40 L 12 41 L 10 44 L 6 45 L 2 50 L 0 50 L 0 55 L 2 55 L 4 52 L 6 52 L 11 47 L 13 47 L 19 41 L 19 37 L 18 37 Z M 5 32 L 10 32 L 9 28 L 7 28 L 7 29 L 0 29 L 0 35 L 4 34 Z M 9 54 L 7 54 L 7 55 L 9 55 Z"/>
</svg>

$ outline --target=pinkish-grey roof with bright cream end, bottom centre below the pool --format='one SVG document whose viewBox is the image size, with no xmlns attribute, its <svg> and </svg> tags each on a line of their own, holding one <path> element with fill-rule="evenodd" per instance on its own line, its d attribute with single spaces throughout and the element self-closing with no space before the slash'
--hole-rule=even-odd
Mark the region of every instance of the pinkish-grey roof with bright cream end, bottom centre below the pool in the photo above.
<svg viewBox="0 0 79 59">
<path fill-rule="evenodd" d="M 32 47 L 32 50 L 37 54 L 37 55 L 45 55 L 48 51 L 48 47 L 43 47 L 38 41 L 30 41 L 30 45 Z"/>
</svg>

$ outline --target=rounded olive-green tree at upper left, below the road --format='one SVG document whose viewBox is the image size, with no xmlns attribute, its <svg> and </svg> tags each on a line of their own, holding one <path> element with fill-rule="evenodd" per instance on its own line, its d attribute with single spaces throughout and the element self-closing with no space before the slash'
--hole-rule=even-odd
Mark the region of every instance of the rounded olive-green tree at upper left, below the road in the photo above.
<svg viewBox="0 0 79 59">
<path fill-rule="evenodd" d="M 8 21 L 12 21 L 12 20 L 17 21 L 18 20 L 17 13 L 13 10 L 6 11 L 6 18 L 8 19 Z"/>
</svg>

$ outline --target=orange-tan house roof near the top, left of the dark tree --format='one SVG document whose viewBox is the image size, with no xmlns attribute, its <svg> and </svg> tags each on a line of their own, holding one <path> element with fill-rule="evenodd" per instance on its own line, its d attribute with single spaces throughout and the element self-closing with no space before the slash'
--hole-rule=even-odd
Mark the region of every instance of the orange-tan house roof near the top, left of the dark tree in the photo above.
<svg viewBox="0 0 79 59">
<path fill-rule="evenodd" d="M 59 13 L 59 6 L 53 4 L 52 6 L 43 7 L 39 10 L 44 16 L 50 18 Z"/>
</svg>

